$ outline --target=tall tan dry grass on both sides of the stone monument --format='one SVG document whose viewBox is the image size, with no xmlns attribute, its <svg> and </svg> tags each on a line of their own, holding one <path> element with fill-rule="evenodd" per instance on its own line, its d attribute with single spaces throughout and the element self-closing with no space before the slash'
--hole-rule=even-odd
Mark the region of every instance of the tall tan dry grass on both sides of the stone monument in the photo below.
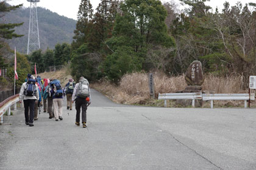
<svg viewBox="0 0 256 170">
<path fill-rule="evenodd" d="M 214 91 L 214 93 L 247 93 L 241 88 L 241 77 L 217 77 L 205 76 L 202 90 Z M 159 105 L 159 101 L 151 100 L 149 97 L 149 85 L 147 73 L 132 73 L 122 77 L 118 86 L 107 80 L 102 80 L 91 85 L 98 91 L 104 93 L 112 101 L 120 104 L 146 104 Z M 187 87 L 184 76 L 168 77 L 163 73 L 154 73 L 155 96 L 158 93 L 175 93 Z M 163 104 L 160 104 L 163 105 Z M 205 102 L 204 107 L 210 106 Z M 243 101 L 216 101 L 215 107 L 240 107 Z"/>
</svg>

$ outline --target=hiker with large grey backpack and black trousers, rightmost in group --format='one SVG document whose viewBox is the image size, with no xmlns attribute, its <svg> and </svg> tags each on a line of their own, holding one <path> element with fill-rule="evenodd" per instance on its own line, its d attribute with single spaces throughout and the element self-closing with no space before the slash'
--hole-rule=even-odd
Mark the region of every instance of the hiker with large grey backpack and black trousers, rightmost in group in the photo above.
<svg viewBox="0 0 256 170">
<path fill-rule="evenodd" d="M 80 126 L 80 111 L 82 107 L 82 124 L 83 127 L 87 127 L 87 107 L 91 104 L 89 82 L 84 77 L 80 77 L 79 83 L 76 83 L 74 92 L 72 95 L 72 103 L 76 101 L 76 122 L 77 126 Z"/>
</svg>

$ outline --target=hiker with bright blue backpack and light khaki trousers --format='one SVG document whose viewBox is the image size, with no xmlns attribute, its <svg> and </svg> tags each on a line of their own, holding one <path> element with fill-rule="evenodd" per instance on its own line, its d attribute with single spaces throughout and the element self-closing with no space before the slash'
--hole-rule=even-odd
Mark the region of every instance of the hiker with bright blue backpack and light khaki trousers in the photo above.
<svg viewBox="0 0 256 170">
<path fill-rule="evenodd" d="M 63 105 L 63 90 L 62 85 L 60 85 L 60 81 L 57 79 L 52 80 L 50 82 L 51 87 L 51 96 L 52 96 L 52 102 L 54 106 L 54 116 L 55 121 L 59 121 L 59 119 L 62 121 L 62 105 Z"/>
</svg>

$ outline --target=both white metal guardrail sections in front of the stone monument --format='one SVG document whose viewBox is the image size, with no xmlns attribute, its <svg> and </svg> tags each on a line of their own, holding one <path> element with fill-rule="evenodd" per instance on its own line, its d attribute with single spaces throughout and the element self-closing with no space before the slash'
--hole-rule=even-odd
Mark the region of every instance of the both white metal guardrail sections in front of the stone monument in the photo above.
<svg viewBox="0 0 256 170">
<path fill-rule="evenodd" d="M 195 99 L 202 99 L 203 101 L 210 101 L 211 108 L 213 108 L 213 101 L 244 101 L 244 107 L 247 107 L 247 101 L 255 100 L 255 94 L 251 93 L 230 93 L 230 94 L 202 94 L 202 93 L 163 93 L 158 94 L 158 100 L 179 100 L 192 99 L 192 107 L 194 107 Z"/>
</svg>

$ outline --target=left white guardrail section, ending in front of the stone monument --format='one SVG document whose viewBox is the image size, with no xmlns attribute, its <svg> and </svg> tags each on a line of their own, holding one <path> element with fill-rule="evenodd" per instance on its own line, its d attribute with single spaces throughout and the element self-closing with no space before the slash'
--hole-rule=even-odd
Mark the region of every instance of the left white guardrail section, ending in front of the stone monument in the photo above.
<svg viewBox="0 0 256 170">
<path fill-rule="evenodd" d="M 192 107 L 194 107 L 195 99 L 202 99 L 202 93 L 159 93 L 158 100 L 179 100 L 179 99 L 192 99 Z"/>
</svg>

